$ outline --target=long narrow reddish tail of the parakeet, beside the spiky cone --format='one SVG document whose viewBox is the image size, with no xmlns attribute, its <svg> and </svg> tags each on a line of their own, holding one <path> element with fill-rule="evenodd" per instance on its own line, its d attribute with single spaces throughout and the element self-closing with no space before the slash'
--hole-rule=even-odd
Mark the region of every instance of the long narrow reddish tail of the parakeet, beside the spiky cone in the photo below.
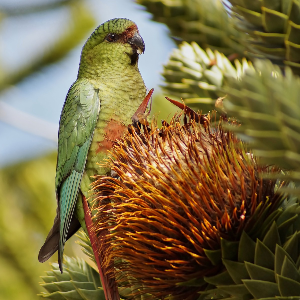
<svg viewBox="0 0 300 300">
<path fill-rule="evenodd" d="M 82 195 L 82 204 L 84 210 L 84 218 L 85 218 L 85 225 L 88 230 L 88 236 L 91 241 L 91 245 L 93 248 L 93 252 L 95 255 L 96 263 L 99 270 L 99 275 L 101 279 L 101 283 L 104 290 L 104 295 L 106 300 L 120 300 L 118 287 L 116 285 L 116 280 L 108 278 L 105 270 L 102 268 L 102 259 L 101 259 L 101 251 L 99 247 L 99 242 L 96 239 L 95 232 L 93 231 L 93 222 L 91 218 L 91 211 L 88 207 L 88 202 L 84 195 Z"/>
</svg>

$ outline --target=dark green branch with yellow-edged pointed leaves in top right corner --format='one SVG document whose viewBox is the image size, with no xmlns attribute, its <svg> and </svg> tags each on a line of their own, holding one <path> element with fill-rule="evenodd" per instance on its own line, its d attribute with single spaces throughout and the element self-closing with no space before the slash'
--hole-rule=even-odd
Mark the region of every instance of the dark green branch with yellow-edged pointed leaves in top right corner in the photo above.
<svg viewBox="0 0 300 300">
<path fill-rule="evenodd" d="M 290 65 L 295 74 L 300 74 L 299 1 L 252 1 L 257 6 L 249 5 L 250 1 L 229 2 L 235 28 L 247 33 L 240 40 L 247 49 L 245 53 L 271 59 L 280 67 Z"/>
</svg>

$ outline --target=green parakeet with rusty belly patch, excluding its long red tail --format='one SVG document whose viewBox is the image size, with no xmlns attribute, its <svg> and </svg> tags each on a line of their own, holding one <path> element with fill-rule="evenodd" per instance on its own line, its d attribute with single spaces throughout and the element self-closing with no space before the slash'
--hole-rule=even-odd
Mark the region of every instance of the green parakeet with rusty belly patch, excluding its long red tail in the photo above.
<svg viewBox="0 0 300 300">
<path fill-rule="evenodd" d="M 90 201 L 94 174 L 109 170 L 97 163 L 131 123 L 146 96 L 138 68 L 145 49 L 137 25 L 129 19 L 111 19 L 95 29 L 82 48 L 79 71 L 61 112 L 55 189 L 54 220 L 38 259 L 44 262 L 58 250 L 62 272 L 64 244 L 85 228 L 82 198 Z"/>
</svg>

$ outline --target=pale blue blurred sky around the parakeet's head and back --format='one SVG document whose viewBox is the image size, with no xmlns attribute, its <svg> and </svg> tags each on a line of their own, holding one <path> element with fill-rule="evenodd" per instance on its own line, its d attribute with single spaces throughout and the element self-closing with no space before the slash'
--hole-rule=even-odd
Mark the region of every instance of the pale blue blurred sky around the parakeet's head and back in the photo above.
<svg viewBox="0 0 300 300">
<path fill-rule="evenodd" d="M 34 3 L 41 3 L 41 0 L 1 0 L 0 6 L 16 7 Z M 86 3 L 91 7 L 97 25 L 116 17 L 125 17 L 137 23 L 146 45 L 145 53 L 139 60 L 140 72 L 147 88 L 156 88 L 157 92 L 161 83 L 159 74 L 162 64 L 167 62 L 175 46 L 168 37 L 167 27 L 151 21 L 151 14 L 134 1 L 87 0 Z M 20 64 L 42 53 L 55 40 L 60 28 L 67 24 L 67 18 L 66 9 L 56 9 L 4 19 L 0 26 L 0 70 L 17 69 Z M 81 48 L 89 34 L 64 60 L 42 69 L 0 94 L 0 167 L 56 149 L 55 137 L 61 108 L 70 85 L 76 79 Z M 41 125 L 47 128 L 47 138 L 8 124 L 19 123 L 19 127 L 26 129 L 31 121 L 35 124 L 35 118 L 44 120 Z M 25 121 L 16 122 L 19 120 Z M 23 126 L 24 123 L 28 126 Z M 39 131 L 39 128 L 33 128 L 32 131 Z"/>
</svg>

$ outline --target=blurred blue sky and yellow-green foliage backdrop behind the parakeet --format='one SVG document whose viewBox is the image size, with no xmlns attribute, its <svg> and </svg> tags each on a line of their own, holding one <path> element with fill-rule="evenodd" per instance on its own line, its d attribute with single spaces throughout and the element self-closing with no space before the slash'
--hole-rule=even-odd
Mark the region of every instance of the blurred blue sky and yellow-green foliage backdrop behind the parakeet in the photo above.
<svg viewBox="0 0 300 300">
<path fill-rule="evenodd" d="M 0 1 L 0 299 L 38 299 L 50 268 L 38 251 L 52 226 L 56 143 L 65 95 L 76 79 L 82 45 L 102 22 L 134 20 L 146 44 L 140 71 L 155 88 L 152 112 L 176 111 L 158 88 L 175 46 L 165 25 L 130 0 Z M 65 253 L 80 256 L 73 237 Z"/>
</svg>

